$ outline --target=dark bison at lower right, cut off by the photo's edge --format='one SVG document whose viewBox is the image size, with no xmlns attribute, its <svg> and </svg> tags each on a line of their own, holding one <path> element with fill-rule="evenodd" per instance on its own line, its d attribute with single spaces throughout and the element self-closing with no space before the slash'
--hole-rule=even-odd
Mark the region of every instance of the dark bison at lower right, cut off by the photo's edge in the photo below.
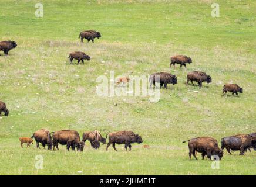
<svg viewBox="0 0 256 187">
<path fill-rule="evenodd" d="M 256 137 L 252 134 L 238 134 L 235 136 L 229 136 L 221 138 L 221 149 L 226 148 L 228 153 L 231 154 L 230 150 L 240 150 L 240 155 L 244 155 L 245 150 L 256 148 L 255 142 Z M 251 150 L 250 150 L 251 151 Z"/>
</svg>

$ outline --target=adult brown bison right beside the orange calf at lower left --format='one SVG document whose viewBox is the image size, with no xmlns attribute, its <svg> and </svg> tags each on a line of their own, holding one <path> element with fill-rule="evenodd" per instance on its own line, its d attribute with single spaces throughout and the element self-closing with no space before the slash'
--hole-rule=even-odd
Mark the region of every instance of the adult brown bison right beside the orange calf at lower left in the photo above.
<svg viewBox="0 0 256 187">
<path fill-rule="evenodd" d="M 39 143 L 42 144 L 43 148 L 45 148 L 45 145 L 47 144 L 48 146 L 48 150 L 52 149 L 52 136 L 50 136 L 50 131 L 47 129 L 41 129 L 41 130 L 37 130 L 35 131 L 35 133 L 33 133 L 31 138 L 35 138 L 36 140 L 36 147 L 39 147 Z"/>
</svg>

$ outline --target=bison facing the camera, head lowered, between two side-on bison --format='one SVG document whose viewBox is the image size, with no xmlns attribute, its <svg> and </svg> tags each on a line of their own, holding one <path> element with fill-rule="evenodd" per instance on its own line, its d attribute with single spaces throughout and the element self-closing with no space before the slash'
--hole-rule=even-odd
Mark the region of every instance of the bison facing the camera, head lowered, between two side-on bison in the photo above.
<svg viewBox="0 0 256 187">
<path fill-rule="evenodd" d="M 85 142 L 86 140 L 90 141 L 90 145 L 97 149 L 100 147 L 100 142 L 102 144 L 106 144 L 106 139 L 102 137 L 102 134 L 100 134 L 99 131 L 95 130 L 95 131 L 85 131 L 83 133 L 83 142 Z"/>
</svg>

